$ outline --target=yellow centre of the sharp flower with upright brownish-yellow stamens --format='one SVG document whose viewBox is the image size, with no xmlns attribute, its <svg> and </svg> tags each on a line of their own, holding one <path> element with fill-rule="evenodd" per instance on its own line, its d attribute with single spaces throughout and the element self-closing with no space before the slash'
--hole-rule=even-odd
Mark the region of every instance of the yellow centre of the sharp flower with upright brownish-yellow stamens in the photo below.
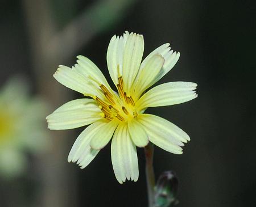
<svg viewBox="0 0 256 207">
<path fill-rule="evenodd" d="M 98 102 L 102 116 L 107 120 L 117 119 L 119 121 L 127 121 L 138 116 L 135 109 L 135 103 L 130 95 L 127 95 L 123 90 L 123 78 L 118 77 L 118 95 L 110 92 L 106 86 L 101 85 L 101 90 L 104 91 L 105 99 L 101 100 L 97 96 L 93 98 Z"/>
</svg>

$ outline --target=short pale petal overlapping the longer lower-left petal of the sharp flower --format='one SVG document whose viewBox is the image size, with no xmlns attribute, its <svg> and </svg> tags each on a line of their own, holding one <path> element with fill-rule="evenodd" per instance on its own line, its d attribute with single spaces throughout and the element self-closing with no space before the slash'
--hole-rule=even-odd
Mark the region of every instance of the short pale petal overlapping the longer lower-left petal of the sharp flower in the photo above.
<svg viewBox="0 0 256 207">
<path fill-rule="evenodd" d="M 94 134 L 90 141 L 90 146 L 93 149 L 100 150 L 106 146 L 113 136 L 115 129 L 117 128 L 118 122 L 115 120 L 105 121 L 101 128 L 98 129 L 98 133 Z"/>
</svg>

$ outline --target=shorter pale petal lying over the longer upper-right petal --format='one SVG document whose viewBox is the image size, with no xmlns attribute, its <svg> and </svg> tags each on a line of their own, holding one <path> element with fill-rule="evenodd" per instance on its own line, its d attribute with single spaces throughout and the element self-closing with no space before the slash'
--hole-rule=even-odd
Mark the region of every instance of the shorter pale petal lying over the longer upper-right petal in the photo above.
<svg viewBox="0 0 256 207">
<path fill-rule="evenodd" d="M 133 95 L 135 100 L 141 96 L 142 92 L 151 86 L 154 79 L 159 74 L 160 69 L 164 64 L 164 58 L 160 54 L 154 54 L 149 58 L 149 60 L 144 64 L 143 67 L 139 69 L 137 79 L 135 81 L 135 94 Z"/>
</svg>

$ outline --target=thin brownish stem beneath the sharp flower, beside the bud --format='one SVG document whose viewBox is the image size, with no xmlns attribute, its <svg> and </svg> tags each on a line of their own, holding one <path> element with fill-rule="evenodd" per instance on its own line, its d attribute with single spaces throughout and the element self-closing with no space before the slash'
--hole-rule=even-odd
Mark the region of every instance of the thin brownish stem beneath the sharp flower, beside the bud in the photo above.
<svg viewBox="0 0 256 207">
<path fill-rule="evenodd" d="M 146 147 L 144 147 L 145 157 L 146 157 L 146 180 L 147 180 L 147 196 L 148 196 L 148 207 L 154 207 L 155 201 L 155 174 L 153 168 L 153 155 L 154 155 L 154 145 L 152 143 L 148 143 Z"/>
</svg>

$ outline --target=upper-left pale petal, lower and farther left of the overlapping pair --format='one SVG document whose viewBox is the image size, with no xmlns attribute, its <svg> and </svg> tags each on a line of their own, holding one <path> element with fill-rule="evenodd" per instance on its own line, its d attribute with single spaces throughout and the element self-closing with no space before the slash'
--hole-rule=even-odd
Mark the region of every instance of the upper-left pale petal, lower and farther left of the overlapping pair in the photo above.
<svg viewBox="0 0 256 207">
<path fill-rule="evenodd" d="M 101 96 L 102 93 L 86 77 L 78 73 L 75 68 L 60 65 L 53 77 L 62 85 L 84 95 Z M 93 95 L 92 95 L 93 94 Z"/>
</svg>

